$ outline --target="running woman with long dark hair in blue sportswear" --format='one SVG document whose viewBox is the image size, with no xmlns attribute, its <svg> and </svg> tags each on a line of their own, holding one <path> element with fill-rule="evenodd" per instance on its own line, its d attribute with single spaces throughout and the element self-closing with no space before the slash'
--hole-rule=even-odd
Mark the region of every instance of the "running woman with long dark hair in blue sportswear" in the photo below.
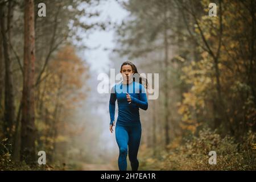
<svg viewBox="0 0 256 182">
<path fill-rule="evenodd" d="M 135 79 L 135 76 L 138 76 L 137 67 L 130 61 L 125 61 L 121 65 L 120 73 L 122 73 L 122 82 L 115 84 L 110 94 L 110 132 L 113 133 L 115 125 L 115 101 L 117 100 L 118 118 L 115 126 L 115 139 L 119 147 L 118 167 L 120 171 L 127 170 L 128 154 L 131 170 L 138 171 L 137 155 L 142 133 L 139 108 L 143 110 L 148 108 L 147 79 L 145 89 L 142 77 L 139 76 L 139 80 Z"/>
</svg>

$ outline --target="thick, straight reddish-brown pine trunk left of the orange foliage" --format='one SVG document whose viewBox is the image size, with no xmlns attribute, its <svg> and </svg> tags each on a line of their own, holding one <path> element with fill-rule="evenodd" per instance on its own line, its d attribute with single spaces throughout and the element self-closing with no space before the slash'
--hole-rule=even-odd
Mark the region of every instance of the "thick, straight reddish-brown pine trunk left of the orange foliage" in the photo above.
<svg viewBox="0 0 256 182">
<path fill-rule="evenodd" d="M 21 159 L 35 162 L 35 29 L 34 1 L 25 0 L 24 6 L 24 77 L 22 92 Z"/>
</svg>

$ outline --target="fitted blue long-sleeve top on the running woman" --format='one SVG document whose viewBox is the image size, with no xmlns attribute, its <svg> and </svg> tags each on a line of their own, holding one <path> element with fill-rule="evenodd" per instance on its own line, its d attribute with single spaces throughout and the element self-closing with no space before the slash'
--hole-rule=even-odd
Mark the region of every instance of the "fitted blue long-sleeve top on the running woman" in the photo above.
<svg viewBox="0 0 256 182">
<path fill-rule="evenodd" d="M 127 101 L 126 93 L 131 96 L 131 103 Z M 113 124 L 115 117 L 115 101 L 118 104 L 117 125 L 134 126 L 141 122 L 139 118 L 139 108 L 147 110 L 147 94 L 144 86 L 139 82 L 130 84 L 115 84 L 110 93 L 109 114 L 110 125 Z"/>
</svg>

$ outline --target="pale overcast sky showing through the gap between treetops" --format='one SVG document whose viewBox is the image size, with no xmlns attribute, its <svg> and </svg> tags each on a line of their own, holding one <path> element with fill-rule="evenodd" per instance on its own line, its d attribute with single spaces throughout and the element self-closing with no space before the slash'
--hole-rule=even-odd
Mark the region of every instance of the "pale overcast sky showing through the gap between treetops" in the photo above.
<svg viewBox="0 0 256 182">
<path fill-rule="evenodd" d="M 125 9 L 117 3 L 115 0 L 102 1 L 96 9 L 99 10 L 100 16 L 98 18 L 90 18 L 86 20 L 88 22 L 104 22 L 107 20 L 111 20 L 115 23 L 121 23 L 122 19 L 124 19 L 128 13 Z M 109 61 L 109 53 L 110 51 L 104 50 L 105 48 L 114 48 L 114 30 L 110 31 L 95 31 L 89 35 L 88 39 L 84 39 L 84 43 L 89 47 L 97 47 L 97 49 L 84 51 L 83 57 L 85 57 L 86 61 L 91 65 L 91 70 L 108 73 L 110 64 Z"/>
</svg>

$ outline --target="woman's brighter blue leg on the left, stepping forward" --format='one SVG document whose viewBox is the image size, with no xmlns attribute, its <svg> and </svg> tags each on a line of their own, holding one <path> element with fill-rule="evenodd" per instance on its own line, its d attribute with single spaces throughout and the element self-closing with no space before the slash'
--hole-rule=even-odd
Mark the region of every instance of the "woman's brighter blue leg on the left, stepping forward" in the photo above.
<svg viewBox="0 0 256 182">
<path fill-rule="evenodd" d="M 126 127 L 115 126 L 115 139 L 119 147 L 118 167 L 120 171 L 127 170 L 127 145 L 128 145 L 128 133 Z"/>
</svg>

